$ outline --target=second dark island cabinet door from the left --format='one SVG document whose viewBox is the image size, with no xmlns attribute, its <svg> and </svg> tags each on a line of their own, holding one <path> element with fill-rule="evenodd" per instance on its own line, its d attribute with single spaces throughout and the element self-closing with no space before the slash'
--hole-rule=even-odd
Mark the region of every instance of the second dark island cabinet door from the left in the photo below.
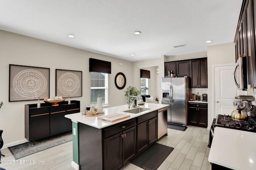
<svg viewBox="0 0 256 170">
<path fill-rule="evenodd" d="M 122 133 L 123 138 L 123 164 L 129 162 L 136 154 L 136 127 Z"/>
</svg>

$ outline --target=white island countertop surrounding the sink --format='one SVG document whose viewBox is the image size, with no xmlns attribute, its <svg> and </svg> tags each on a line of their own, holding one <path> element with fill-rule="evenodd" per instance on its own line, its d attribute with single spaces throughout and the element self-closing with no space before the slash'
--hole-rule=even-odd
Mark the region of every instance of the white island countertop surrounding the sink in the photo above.
<svg viewBox="0 0 256 170">
<path fill-rule="evenodd" d="M 124 111 L 129 109 L 127 104 L 122 105 L 122 106 L 104 108 L 104 110 L 105 110 L 104 115 L 110 115 L 110 114 L 113 114 L 113 113 L 122 113 L 122 114 L 125 114 L 125 115 L 130 115 L 130 117 L 128 117 L 126 119 L 123 119 L 123 120 L 120 120 L 120 121 L 116 121 L 116 122 L 106 122 L 106 121 L 98 120 L 97 116 L 91 116 L 91 117 L 83 116 L 81 114 L 81 112 L 74 113 L 74 114 L 68 114 L 68 115 L 65 115 L 65 117 L 67 117 L 68 119 L 71 119 L 74 122 L 80 122 L 80 123 L 84 123 L 86 125 L 90 125 L 92 127 L 96 127 L 98 129 L 102 129 L 104 127 L 108 127 L 110 125 L 114 125 L 116 123 L 120 123 L 122 121 L 126 121 L 128 119 L 132 119 L 134 117 L 138 117 L 140 115 L 144 115 L 146 113 L 149 113 L 149 112 L 152 112 L 152 111 L 164 108 L 164 107 L 168 107 L 168 106 L 169 105 L 167 105 L 167 104 L 145 103 L 144 105 L 140 105 L 139 107 L 145 107 L 145 108 L 150 108 L 150 109 L 147 110 L 147 111 L 143 111 L 141 113 L 136 113 L 136 114 L 124 112 Z M 133 108 L 130 107 L 130 109 L 133 109 Z"/>
</svg>

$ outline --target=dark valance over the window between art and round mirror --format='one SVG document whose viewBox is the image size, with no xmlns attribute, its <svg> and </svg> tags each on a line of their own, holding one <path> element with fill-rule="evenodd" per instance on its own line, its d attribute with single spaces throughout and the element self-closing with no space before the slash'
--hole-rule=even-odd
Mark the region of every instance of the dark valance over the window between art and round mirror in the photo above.
<svg viewBox="0 0 256 170">
<path fill-rule="evenodd" d="M 102 72 L 111 74 L 111 62 L 90 58 L 89 72 Z"/>
</svg>

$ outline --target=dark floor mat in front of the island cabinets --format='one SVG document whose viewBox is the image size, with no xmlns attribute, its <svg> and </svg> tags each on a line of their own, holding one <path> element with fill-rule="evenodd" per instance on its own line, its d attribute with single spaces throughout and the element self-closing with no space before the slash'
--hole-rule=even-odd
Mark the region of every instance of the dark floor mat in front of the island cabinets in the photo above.
<svg viewBox="0 0 256 170">
<path fill-rule="evenodd" d="M 172 150 L 174 148 L 154 143 L 134 158 L 131 163 L 144 170 L 156 170 Z"/>
</svg>

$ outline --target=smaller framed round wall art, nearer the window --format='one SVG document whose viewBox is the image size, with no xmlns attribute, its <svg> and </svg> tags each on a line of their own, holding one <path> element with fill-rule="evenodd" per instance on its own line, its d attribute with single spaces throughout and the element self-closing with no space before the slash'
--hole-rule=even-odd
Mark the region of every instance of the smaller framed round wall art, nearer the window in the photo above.
<svg viewBox="0 0 256 170">
<path fill-rule="evenodd" d="M 82 96 L 82 71 L 56 69 L 56 96 Z"/>
</svg>

